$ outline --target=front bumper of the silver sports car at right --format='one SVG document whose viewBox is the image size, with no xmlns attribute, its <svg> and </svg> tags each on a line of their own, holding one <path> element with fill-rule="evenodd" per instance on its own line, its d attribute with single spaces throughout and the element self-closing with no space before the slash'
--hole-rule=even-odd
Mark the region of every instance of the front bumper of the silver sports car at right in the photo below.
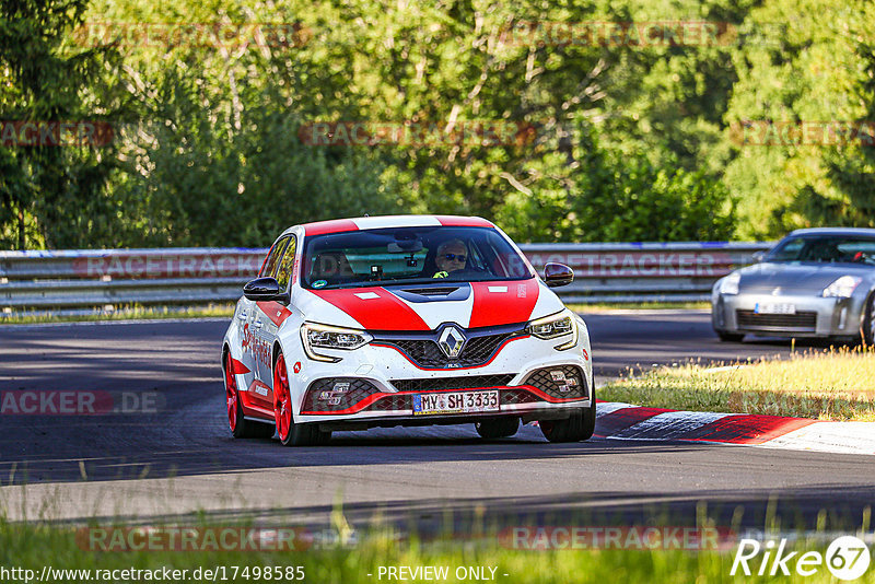
<svg viewBox="0 0 875 584">
<path fill-rule="evenodd" d="M 792 305 L 793 314 L 763 314 L 765 305 Z M 843 337 L 860 332 L 863 303 L 854 297 L 837 299 L 801 294 L 720 294 L 711 301 L 715 330 L 768 337 Z"/>
</svg>

